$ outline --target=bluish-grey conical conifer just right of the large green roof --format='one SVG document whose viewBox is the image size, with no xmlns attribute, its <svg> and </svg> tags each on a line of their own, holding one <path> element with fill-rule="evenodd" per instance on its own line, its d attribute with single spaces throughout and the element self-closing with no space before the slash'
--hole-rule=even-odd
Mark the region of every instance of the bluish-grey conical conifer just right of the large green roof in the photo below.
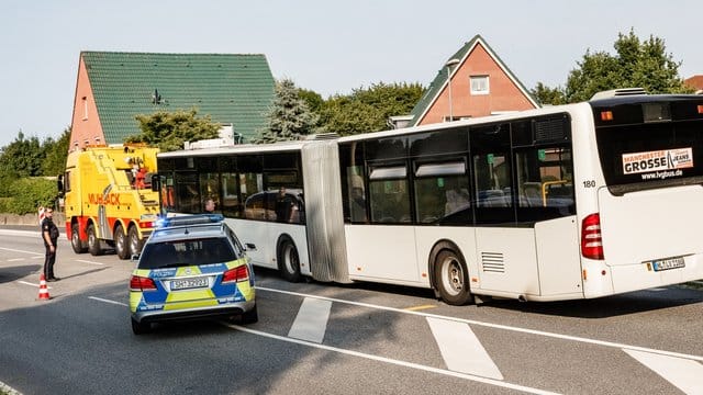
<svg viewBox="0 0 703 395">
<path fill-rule="evenodd" d="M 300 92 L 290 79 L 276 82 L 276 97 L 267 114 L 268 125 L 259 131 L 260 135 L 254 143 L 295 140 L 317 132 L 319 116 L 310 110 Z M 305 92 L 305 97 L 313 98 L 309 91 Z"/>
</svg>

